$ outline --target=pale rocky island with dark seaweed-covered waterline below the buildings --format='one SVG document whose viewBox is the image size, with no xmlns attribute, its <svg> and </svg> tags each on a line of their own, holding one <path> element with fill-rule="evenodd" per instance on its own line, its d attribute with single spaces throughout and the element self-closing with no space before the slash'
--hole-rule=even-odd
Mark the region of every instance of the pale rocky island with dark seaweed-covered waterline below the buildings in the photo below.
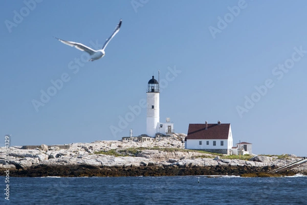
<svg viewBox="0 0 307 205">
<path fill-rule="evenodd" d="M 301 159 L 295 155 L 227 156 L 184 149 L 184 134 L 150 141 L 94 141 L 58 146 L 0 148 L 2 176 L 268 176 L 278 167 Z M 6 160 L 9 159 L 9 164 Z M 307 163 L 278 175 L 307 175 Z M 271 175 L 269 175 L 271 176 Z"/>
</svg>

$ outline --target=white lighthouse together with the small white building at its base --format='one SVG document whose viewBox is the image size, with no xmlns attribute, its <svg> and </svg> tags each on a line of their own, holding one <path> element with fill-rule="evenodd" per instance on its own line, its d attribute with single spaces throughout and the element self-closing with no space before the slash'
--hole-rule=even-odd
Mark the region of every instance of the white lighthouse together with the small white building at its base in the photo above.
<svg viewBox="0 0 307 205">
<path fill-rule="evenodd" d="M 169 134 L 174 132 L 173 124 L 169 118 L 166 123 L 160 122 L 160 88 L 154 76 L 148 81 L 147 87 L 147 135 L 155 137 L 156 133 Z"/>
</svg>

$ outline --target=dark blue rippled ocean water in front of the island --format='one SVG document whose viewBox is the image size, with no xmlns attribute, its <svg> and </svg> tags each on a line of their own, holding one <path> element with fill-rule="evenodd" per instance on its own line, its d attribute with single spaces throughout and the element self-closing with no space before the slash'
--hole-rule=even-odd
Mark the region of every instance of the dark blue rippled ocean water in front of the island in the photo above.
<svg viewBox="0 0 307 205">
<path fill-rule="evenodd" d="M 0 204 L 307 204 L 306 176 L 11 177 L 9 202 L 4 180 Z"/>
</svg>

